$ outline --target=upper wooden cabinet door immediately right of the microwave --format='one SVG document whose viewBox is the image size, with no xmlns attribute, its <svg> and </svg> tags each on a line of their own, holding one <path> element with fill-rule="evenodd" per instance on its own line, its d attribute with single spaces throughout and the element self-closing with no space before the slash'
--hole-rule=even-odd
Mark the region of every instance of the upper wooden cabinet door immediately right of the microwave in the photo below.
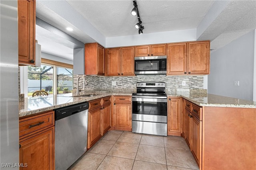
<svg viewBox="0 0 256 170">
<path fill-rule="evenodd" d="M 167 44 L 167 75 L 187 74 L 187 43 Z"/>
</svg>

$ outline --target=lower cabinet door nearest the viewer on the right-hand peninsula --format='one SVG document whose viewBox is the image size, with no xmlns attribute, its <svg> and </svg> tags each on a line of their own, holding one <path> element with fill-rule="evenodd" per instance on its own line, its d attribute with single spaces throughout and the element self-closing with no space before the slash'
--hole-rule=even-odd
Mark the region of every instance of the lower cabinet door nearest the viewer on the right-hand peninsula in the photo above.
<svg viewBox="0 0 256 170">
<path fill-rule="evenodd" d="M 194 115 L 192 115 L 191 122 L 191 151 L 194 155 L 196 162 L 200 165 L 200 156 L 201 156 L 201 147 L 200 140 L 201 139 L 201 129 L 202 129 L 202 121 L 199 121 Z"/>
</svg>

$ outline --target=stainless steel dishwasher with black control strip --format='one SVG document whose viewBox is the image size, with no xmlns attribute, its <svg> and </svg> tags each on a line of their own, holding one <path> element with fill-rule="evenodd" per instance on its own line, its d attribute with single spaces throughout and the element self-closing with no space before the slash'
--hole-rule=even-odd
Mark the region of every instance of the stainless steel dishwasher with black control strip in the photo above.
<svg viewBox="0 0 256 170">
<path fill-rule="evenodd" d="M 87 150 L 88 102 L 55 110 L 55 170 L 66 170 Z"/>
</svg>

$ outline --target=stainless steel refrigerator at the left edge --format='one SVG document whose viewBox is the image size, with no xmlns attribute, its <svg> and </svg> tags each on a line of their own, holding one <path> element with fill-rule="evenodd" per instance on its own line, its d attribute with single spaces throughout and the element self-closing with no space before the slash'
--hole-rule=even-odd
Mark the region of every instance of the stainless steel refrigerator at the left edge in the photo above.
<svg viewBox="0 0 256 170">
<path fill-rule="evenodd" d="M 18 1 L 0 0 L 0 169 L 18 170 Z"/>
</svg>

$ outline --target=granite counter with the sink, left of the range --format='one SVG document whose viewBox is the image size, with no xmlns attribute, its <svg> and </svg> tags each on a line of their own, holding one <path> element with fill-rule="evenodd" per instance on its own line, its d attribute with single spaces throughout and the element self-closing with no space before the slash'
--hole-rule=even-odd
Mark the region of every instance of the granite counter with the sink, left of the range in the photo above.
<svg viewBox="0 0 256 170">
<path fill-rule="evenodd" d="M 132 92 L 94 92 L 88 94 L 97 94 L 93 97 L 72 97 L 72 93 L 58 94 L 40 97 L 25 98 L 24 102 L 19 103 L 19 117 L 40 113 L 43 111 L 49 111 L 60 107 L 70 106 L 82 102 L 88 102 L 90 100 L 104 98 L 111 95 L 132 96 Z"/>
</svg>

